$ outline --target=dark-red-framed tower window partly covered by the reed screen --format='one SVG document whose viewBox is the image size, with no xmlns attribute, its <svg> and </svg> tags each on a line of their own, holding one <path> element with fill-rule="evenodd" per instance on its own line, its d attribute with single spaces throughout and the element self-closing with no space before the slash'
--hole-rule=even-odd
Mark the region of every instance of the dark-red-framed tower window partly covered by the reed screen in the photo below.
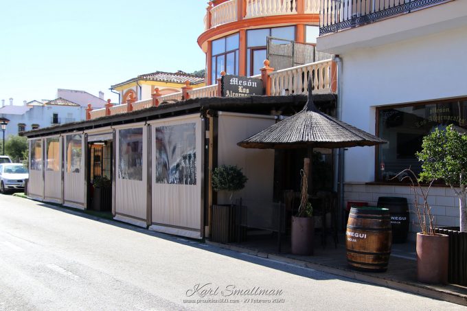
<svg viewBox="0 0 467 311">
<path fill-rule="evenodd" d="M 247 30 L 247 76 L 255 76 L 261 73 L 263 62 L 267 58 L 267 37 L 295 40 L 295 26 L 275 27 L 265 29 Z M 274 43 L 288 43 L 280 40 Z"/>
</svg>

